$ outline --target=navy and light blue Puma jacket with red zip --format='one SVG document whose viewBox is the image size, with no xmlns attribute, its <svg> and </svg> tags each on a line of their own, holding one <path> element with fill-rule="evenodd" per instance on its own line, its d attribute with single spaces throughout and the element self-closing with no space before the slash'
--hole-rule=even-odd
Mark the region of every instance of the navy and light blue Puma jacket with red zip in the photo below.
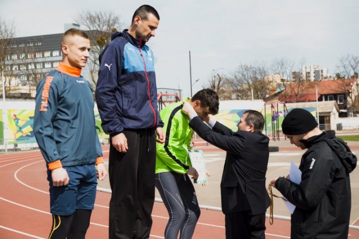
<svg viewBox="0 0 359 239">
<path fill-rule="evenodd" d="M 145 42 L 127 29 L 115 32 L 99 59 L 96 102 L 105 133 L 112 137 L 125 129 L 162 127 L 155 57 Z"/>
</svg>

